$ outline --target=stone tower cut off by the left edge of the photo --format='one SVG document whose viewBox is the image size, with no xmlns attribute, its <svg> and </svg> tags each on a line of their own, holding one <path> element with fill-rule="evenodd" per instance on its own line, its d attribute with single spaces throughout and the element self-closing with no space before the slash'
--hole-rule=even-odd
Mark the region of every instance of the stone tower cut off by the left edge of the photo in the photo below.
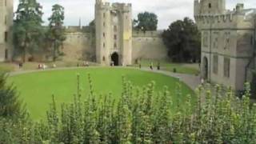
<svg viewBox="0 0 256 144">
<path fill-rule="evenodd" d="M 11 60 L 12 57 L 13 17 L 13 0 L 0 0 L 0 62 Z"/>
</svg>

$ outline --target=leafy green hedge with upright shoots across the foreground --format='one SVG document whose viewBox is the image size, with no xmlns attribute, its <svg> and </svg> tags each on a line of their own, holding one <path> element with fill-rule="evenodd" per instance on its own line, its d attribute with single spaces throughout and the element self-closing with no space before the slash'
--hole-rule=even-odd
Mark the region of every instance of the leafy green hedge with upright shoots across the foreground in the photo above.
<svg viewBox="0 0 256 144">
<path fill-rule="evenodd" d="M 50 105 L 47 122 L 0 122 L 2 143 L 254 143 L 256 142 L 256 105 L 250 106 L 250 86 L 242 99 L 231 90 L 222 93 L 196 90 L 198 102 L 186 98 L 186 109 L 175 105 L 165 88 L 154 91 L 154 82 L 142 89 L 123 80 L 120 98 L 112 94 L 96 96 L 89 77 L 90 94 L 62 104 Z M 182 96 L 179 88 L 176 95 Z"/>
</svg>

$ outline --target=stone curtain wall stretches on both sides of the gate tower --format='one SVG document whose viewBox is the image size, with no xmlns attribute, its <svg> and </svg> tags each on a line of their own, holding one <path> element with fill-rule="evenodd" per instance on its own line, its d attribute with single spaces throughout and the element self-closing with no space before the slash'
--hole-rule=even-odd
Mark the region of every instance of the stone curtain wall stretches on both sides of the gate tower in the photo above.
<svg viewBox="0 0 256 144">
<path fill-rule="evenodd" d="M 66 28 L 66 41 L 63 45 L 63 57 L 66 61 L 74 59 L 92 61 L 95 59 L 95 46 L 87 28 L 79 26 Z M 166 46 L 162 42 L 161 31 L 146 31 L 133 33 L 132 37 L 132 60 L 138 59 L 166 59 Z"/>
</svg>

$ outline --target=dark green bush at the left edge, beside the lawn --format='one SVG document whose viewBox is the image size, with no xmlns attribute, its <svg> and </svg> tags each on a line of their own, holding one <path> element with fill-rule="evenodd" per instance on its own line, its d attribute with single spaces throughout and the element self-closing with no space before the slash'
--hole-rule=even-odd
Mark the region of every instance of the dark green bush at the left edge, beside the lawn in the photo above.
<svg viewBox="0 0 256 144">
<path fill-rule="evenodd" d="M 0 118 L 23 118 L 26 110 L 14 86 L 6 84 L 6 74 L 0 74 Z"/>
</svg>

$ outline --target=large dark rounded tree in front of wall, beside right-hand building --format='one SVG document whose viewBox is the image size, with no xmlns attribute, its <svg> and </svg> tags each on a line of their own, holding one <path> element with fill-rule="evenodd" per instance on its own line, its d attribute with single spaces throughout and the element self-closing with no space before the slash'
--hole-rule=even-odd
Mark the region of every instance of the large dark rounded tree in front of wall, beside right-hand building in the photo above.
<svg viewBox="0 0 256 144">
<path fill-rule="evenodd" d="M 174 62 L 196 62 L 200 60 L 201 36 L 190 18 L 170 24 L 162 34 L 163 42 L 168 48 L 168 56 Z"/>
</svg>

